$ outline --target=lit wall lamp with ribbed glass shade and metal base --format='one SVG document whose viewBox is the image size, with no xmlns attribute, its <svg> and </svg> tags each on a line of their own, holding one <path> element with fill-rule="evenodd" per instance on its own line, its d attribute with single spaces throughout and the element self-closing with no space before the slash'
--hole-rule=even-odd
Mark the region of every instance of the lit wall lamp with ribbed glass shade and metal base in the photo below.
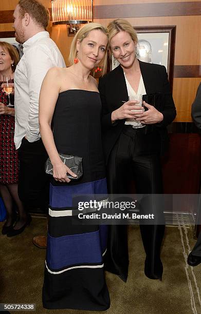
<svg viewBox="0 0 201 314">
<path fill-rule="evenodd" d="M 52 0 L 52 25 L 67 24 L 68 35 L 75 35 L 80 24 L 93 21 L 93 0 Z"/>
</svg>

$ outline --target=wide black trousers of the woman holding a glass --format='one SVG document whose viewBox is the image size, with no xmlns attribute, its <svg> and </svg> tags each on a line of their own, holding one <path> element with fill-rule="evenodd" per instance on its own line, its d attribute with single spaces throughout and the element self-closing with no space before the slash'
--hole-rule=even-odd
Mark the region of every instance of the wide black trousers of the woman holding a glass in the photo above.
<svg viewBox="0 0 201 314">
<path fill-rule="evenodd" d="M 135 182 L 138 194 L 162 194 L 162 174 L 160 166 L 160 135 L 155 130 L 145 134 L 144 128 L 134 129 L 124 126 L 118 142 L 112 149 L 107 164 L 108 192 L 128 193 L 130 179 Z M 152 206 L 160 225 L 140 225 L 141 237 L 147 258 L 145 274 L 149 278 L 162 276 L 160 247 L 165 231 L 164 215 L 161 207 Z M 109 228 L 108 249 L 105 266 L 126 281 L 129 265 L 126 226 L 113 225 Z"/>
</svg>

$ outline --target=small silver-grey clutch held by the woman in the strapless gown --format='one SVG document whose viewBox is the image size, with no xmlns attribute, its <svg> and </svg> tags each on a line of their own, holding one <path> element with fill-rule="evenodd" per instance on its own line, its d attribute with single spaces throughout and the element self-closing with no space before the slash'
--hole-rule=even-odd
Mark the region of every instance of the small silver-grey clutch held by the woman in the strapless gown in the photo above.
<svg viewBox="0 0 201 314">
<path fill-rule="evenodd" d="M 66 155 L 66 154 L 60 154 L 59 156 L 63 162 L 64 165 L 66 165 L 72 172 L 77 174 L 76 178 L 71 176 L 70 174 L 67 174 L 67 177 L 70 180 L 78 180 L 83 175 L 82 171 L 82 157 L 79 156 L 72 156 L 72 155 Z M 45 163 L 45 172 L 47 174 L 53 175 L 53 166 L 51 164 L 50 159 L 48 158 Z"/>
</svg>

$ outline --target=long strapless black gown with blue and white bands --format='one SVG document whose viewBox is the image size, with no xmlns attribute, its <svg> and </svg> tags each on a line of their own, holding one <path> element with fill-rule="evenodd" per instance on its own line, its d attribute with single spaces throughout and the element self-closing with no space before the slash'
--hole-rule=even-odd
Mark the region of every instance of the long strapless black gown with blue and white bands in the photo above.
<svg viewBox="0 0 201 314">
<path fill-rule="evenodd" d="M 43 306 L 106 310 L 109 293 L 103 255 L 107 226 L 72 224 L 73 194 L 106 194 L 98 92 L 67 90 L 59 94 L 53 136 L 59 152 L 83 158 L 78 181 L 50 182 L 48 241 Z"/>
</svg>

